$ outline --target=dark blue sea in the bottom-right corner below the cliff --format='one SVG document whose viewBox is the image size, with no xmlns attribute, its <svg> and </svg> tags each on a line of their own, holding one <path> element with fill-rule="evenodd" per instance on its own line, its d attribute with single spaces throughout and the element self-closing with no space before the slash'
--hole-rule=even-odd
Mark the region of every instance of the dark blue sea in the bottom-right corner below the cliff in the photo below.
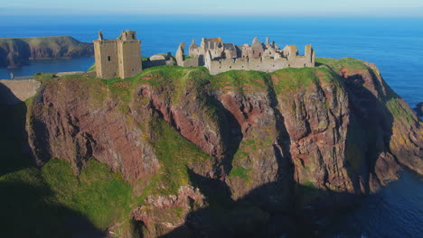
<svg viewBox="0 0 423 238">
<path fill-rule="evenodd" d="M 334 221 L 323 237 L 422 237 L 423 178 L 404 171 L 376 194 L 363 197 L 361 205 Z"/>
</svg>

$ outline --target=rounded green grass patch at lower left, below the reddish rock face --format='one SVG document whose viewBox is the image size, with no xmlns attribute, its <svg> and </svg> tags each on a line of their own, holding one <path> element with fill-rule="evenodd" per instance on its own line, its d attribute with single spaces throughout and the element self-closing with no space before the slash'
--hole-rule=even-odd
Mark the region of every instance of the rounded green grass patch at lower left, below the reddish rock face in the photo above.
<svg viewBox="0 0 423 238">
<path fill-rule="evenodd" d="M 76 177 L 67 161 L 52 159 L 42 167 L 42 177 L 59 203 L 87 216 L 97 227 L 106 228 L 128 214 L 132 188 L 97 160 L 89 160 Z"/>
</svg>

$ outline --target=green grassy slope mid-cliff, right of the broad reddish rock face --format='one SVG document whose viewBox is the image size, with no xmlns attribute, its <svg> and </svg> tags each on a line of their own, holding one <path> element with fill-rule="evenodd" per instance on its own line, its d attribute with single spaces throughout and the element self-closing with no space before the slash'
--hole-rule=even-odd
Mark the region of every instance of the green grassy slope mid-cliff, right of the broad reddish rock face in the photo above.
<svg viewBox="0 0 423 238">
<path fill-rule="evenodd" d="M 152 194 L 177 194 L 181 186 L 190 184 L 188 169 L 194 161 L 212 162 L 208 154 L 188 142 L 164 120 L 153 121 L 151 129 L 155 132 L 156 140 L 152 144 L 161 166 L 150 185 L 143 191 L 140 200 Z"/>
</svg>

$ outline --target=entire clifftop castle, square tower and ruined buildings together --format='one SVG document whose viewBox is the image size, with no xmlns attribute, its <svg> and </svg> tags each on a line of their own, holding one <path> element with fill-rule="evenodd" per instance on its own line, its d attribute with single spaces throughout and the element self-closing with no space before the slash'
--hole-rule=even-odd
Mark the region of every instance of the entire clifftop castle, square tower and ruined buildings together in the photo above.
<svg viewBox="0 0 423 238">
<path fill-rule="evenodd" d="M 275 41 L 258 41 L 252 44 L 235 45 L 225 43 L 221 38 L 202 38 L 200 46 L 195 41 L 185 55 L 185 45 L 181 43 L 173 58 L 170 53 L 157 54 L 149 59 L 141 59 L 141 41 L 136 40 L 136 32 L 124 31 L 116 40 L 104 40 L 102 32 L 94 41 L 96 72 L 98 78 L 128 78 L 139 74 L 144 68 L 160 65 L 182 67 L 205 66 L 211 75 L 229 70 L 258 70 L 273 72 L 285 68 L 315 67 L 315 50 L 305 46 L 305 54 L 299 55 L 295 45 L 280 49 Z M 174 62 L 174 60 L 176 62 Z"/>
</svg>

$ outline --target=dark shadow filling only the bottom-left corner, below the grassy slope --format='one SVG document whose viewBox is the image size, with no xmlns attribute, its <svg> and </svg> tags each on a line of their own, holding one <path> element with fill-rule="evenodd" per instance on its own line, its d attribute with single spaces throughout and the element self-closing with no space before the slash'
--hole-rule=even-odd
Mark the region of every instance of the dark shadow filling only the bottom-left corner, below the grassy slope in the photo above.
<svg viewBox="0 0 423 238">
<path fill-rule="evenodd" d="M 80 213 L 53 203 L 50 188 L 32 182 L 0 181 L 2 237 L 105 237 Z"/>
</svg>

